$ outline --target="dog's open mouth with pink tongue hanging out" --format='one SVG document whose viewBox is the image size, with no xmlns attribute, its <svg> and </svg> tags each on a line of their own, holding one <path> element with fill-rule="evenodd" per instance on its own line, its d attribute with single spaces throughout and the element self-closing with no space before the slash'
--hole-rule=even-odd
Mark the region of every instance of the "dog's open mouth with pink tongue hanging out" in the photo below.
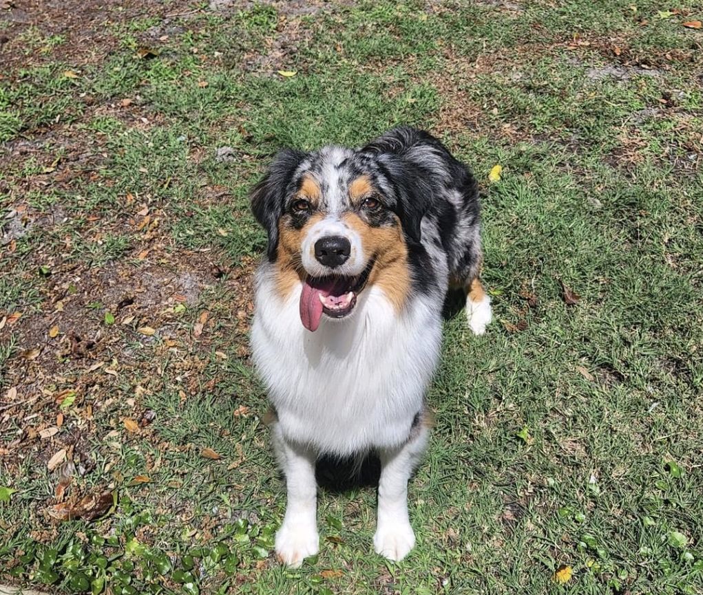
<svg viewBox="0 0 703 595">
<path fill-rule="evenodd" d="M 344 318 L 351 314 L 356 306 L 356 296 L 366 287 L 372 268 L 373 260 L 356 277 L 306 277 L 300 294 L 300 320 L 303 326 L 315 332 L 323 314 L 330 318 Z"/>
</svg>

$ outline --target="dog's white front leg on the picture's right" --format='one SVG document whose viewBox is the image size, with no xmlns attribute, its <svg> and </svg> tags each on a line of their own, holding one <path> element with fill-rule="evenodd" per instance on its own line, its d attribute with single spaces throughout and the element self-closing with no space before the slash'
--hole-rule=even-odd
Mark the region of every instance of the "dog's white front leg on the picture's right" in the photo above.
<svg viewBox="0 0 703 595">
<path fill-rule="evenodd" d="M 408 479 L 425 452 L 429 430 L 420 424 L 404 445 L 380 450 L 378 523 L 373 536 L 376 553 L 399 561 L 415 546 L 408 518 Z"/>
</svg>

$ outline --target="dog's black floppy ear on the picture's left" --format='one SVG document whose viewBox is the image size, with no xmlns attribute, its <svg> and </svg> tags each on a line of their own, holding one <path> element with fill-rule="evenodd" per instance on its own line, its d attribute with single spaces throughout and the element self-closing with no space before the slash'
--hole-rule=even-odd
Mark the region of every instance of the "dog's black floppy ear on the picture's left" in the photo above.
<svg viewBox="0 0 703 595">
<path fill-rule="evenodd" d="M 283 204 L 295 170 L 306 157 L 306 153 L 283 149 L 269 166 L 264 179 L 252 190 L 252 212 L 269 235 L 266 254 L 269 261 L 276 260 L 278 248 L 278 220 L 283 215 Z"/>
</svg>

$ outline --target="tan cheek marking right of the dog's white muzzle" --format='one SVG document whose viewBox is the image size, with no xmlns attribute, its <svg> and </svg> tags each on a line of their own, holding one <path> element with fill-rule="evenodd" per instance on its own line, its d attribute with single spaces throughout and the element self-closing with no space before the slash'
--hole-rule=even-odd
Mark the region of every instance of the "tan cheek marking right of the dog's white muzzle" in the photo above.
<svg viewBox="0 0 703 595">
<path fill-rule="evenodd" d="M 378 285 L 399 312 L 405 306 L 411 289 L 408 247 L 401 226 L 373 228 L 351 213 L 344 215 L 342 220 L 361 237 L 361 249 L 366 259 L 376 258 L 368 285 Z"/>
</svg>

